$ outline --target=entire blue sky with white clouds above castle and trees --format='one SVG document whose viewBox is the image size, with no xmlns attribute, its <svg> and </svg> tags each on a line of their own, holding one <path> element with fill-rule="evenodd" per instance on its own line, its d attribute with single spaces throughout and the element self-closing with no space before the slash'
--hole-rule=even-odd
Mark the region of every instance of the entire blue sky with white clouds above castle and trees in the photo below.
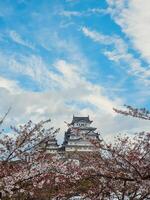
<svg viewBox="0 0 150 200">
<path fill-rule="evenodd" d="M 0 115 L 6 125 L 90 116 L 106 139 L 149 130 L 149 0 L 0 0 Z"/>
</svg>

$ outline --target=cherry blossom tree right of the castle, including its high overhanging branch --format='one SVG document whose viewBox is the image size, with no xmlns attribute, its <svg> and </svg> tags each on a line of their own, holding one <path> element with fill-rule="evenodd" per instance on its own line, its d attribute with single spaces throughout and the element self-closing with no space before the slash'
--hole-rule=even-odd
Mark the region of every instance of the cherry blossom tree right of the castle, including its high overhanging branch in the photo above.
<svg viewBox="0 0 150 200">
<path fill-rule="evenodd" d="M 117 113 L 150 120 L 146 109 L 126 106 Z M 76 193 L 90 199 L 150 199 L 150 133 L 117 137 L 115 143 L 91 141 L 95 152 L 79 156 L 82 176 Z"/>
</svg>

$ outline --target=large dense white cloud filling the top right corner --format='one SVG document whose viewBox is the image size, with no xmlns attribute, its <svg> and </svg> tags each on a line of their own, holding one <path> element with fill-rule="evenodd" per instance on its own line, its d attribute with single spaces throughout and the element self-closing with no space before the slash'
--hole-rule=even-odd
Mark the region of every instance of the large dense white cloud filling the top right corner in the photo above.
<svg viewBox="0 0 150 200">
<path fill-rule="evenodd" d="M 110 14 L 122 31 L 130 38 L 133 47 L 150 63 L 150 1 L 107 0 Z"/>
</svg>

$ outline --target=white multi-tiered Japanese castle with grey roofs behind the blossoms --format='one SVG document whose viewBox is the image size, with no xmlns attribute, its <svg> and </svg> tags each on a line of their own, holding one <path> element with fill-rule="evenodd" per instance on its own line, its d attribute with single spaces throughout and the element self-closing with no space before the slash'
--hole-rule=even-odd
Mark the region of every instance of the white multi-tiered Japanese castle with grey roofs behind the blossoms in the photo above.
<svg viewBox="0 0 150 200">
<path fill-rule="evenodd" d="M 51 136 L 45 144 L 47 153 L 57 152 L 91 152 L 94 145 L 91 141 L 99 140 L 99 134 L 92 127 L 93 121 L 88 117 L 73 116 L 72 122 L 68 124 L 68 129 L 64 135 L 64 142 L 60 147 L 55 136 Z"/>
</svg>

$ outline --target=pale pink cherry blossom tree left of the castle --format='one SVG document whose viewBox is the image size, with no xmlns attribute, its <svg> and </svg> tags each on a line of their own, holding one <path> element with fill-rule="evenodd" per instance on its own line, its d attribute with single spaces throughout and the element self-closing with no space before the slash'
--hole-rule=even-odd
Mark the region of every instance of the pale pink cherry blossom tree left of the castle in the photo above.
<svg viewBox="0 0 150 200">
<path fill-rule="evenodd" d="M 29 121 L 19 128 L 11 127 L 9 135 L 1 132 L 0 191 L 4 199 L 29 199 L 35 187 L 41 188 L 45 181 L 52 184 L 63 162 L 59 161 L 58 155 L 47 155 L 46 146 L 40 148 L 59 131 L 45 128 L 49 122 L 33 124 Z M 46 179 L 48 175 L 49 180 Z"/>
</svg>

